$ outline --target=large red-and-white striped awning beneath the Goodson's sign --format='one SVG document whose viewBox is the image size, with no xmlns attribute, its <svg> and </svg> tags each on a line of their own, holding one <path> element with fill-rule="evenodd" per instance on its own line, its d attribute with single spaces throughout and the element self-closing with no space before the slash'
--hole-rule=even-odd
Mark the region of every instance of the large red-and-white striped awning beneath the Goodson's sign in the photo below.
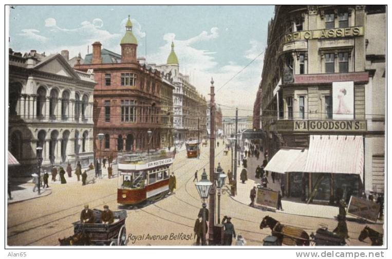
<svg viewBox="0 0 392 259">
<path fill-rule="evenodd" d="M 359 174 L 362 178 L 362 136 L 310 135 L 304 172 Z"/>
</svg>

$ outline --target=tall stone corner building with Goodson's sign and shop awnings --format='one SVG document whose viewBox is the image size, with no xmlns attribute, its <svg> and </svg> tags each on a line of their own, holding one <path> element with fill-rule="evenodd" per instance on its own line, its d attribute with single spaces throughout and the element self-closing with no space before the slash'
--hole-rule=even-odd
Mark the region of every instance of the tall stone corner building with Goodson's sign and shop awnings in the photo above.
<svg viewBox="0 0 392 259">
<path fill-rule="evenodd" d="M 288 195 L 384 191 L 385 21 L 385 6 L 275 7 L 259 102 Z"/>
</svg>

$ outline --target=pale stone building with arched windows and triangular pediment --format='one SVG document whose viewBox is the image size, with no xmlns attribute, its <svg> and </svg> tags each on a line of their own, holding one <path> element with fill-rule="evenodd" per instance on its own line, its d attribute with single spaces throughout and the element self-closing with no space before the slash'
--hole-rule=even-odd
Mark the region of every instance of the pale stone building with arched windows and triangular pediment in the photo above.
<svg viewBox="0 0 392 259">
<path fill-rule="evenodd" d="M 43 166 L 94 160 L 92 102 L 94 74 L 74 70 L 61 54 L 9 51 L 8 149 L 26 172 Z"/>
</svg>

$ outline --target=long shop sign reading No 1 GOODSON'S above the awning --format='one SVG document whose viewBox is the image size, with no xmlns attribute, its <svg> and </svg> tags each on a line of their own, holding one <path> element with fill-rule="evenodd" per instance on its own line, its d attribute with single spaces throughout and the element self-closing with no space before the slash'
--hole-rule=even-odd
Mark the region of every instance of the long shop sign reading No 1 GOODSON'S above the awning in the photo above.
<svg viewBox="0 0 392 259">
<path fill-rule="evenodd" d="M 293 121 L 294 131 L 366 131 L 366 120 Z"/>
</svg>

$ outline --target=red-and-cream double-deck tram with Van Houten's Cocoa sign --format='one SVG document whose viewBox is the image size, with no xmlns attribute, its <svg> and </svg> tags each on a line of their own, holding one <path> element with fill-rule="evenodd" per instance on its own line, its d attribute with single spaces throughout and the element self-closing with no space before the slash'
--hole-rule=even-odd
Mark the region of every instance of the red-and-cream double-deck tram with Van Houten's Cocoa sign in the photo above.
<svg viewBox="0 0 392 259">
<path fill-rule="evenodd" d="M 152 202 L 169 192 L 175 154 L 168 150 L 123 153 L 118 157 L 117 203 Z"/>
</svg>

